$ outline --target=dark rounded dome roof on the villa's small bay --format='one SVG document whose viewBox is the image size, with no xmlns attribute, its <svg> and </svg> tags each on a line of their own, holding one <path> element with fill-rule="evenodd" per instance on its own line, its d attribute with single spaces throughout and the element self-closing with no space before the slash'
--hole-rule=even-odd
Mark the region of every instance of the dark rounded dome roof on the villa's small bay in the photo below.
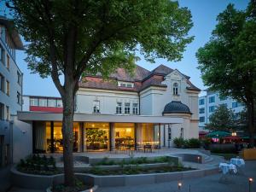
<svg viewBox="0 0 256 192">
<path fill-rule="evenodd" d="M 187 105 L 183 104 L 182 102 L 176 102 L 176 101 L 172 101 L 169 102 L 168 104 L 166 104 L 166 107 L 163 111 L 164 113 L 189 113 L 190 109 Z"/>
</svg>

